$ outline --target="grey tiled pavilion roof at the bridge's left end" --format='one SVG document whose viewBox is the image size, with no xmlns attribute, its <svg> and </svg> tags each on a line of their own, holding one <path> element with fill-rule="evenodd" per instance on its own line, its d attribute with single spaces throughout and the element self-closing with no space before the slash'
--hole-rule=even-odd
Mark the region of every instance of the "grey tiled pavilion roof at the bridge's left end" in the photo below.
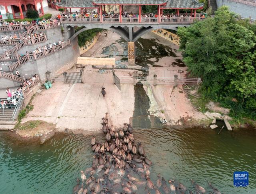
<svg viewBox="0 0 256 194">
<path fill-rule="evenodd" d="M 56 2 L 59 7 L 66 8 L 97 8 L 97 5 L 92 3 L 92 0 L 62 0 L 60 3 Z"/>
</svg>

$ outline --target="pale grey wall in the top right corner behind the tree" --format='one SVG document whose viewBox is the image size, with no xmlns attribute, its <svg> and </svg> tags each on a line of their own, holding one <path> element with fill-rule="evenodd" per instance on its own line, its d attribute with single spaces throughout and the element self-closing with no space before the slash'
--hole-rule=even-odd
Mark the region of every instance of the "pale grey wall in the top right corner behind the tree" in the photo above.
<svg viewBox="0 0 256 194">
<path fill-rule="evenodd" d="M 256 7 L 232 2 L 229 0 L 216 0 L 216 3 L 218 7 L 223 5 L 228 6 L 230 11 L 239 14 L 242 18 L 249 18 L 252 16 L 252 19 L 256 19 Z"/>
</svg>

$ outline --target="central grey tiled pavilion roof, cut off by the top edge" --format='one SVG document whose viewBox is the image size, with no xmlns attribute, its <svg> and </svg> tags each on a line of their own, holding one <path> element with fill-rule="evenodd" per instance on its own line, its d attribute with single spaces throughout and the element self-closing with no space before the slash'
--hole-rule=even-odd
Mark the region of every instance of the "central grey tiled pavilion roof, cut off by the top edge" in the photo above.
<svg viewBox="0 0 256 194">
<path fill-rule="evenodd" d="M 121 4 L 121 5 L 161 5 L 167 0 L 92 0 L 94 4 Z"/>
</svg>

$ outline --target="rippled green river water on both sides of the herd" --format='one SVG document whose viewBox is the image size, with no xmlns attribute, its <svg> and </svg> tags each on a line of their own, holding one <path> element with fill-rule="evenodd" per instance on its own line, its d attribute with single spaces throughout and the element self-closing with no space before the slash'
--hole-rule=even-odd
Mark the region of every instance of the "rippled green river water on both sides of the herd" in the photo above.
<svg viewBox="0 0 256 194">
<path fill-rule="evenodd" d="M 256 193 L 256 131 L 188 129 L 136 129 L 153 165 L 151 179 L 160 173 L 193 190 L 190 179 L 211 191 L 207 181 L 224 193 Z M 96 139 L 104 140 L 102 134 Z M 58 133 L 44 145 L 23 142 L 0 132 L 0 193 L 72 193 L 80 170 L 92 165 L 92 135 Z M 234 171 L 249 172 L 249 186 L 233 186 Z M 153 192 L 152 192 L 153 193 Z"/>
</svg>

